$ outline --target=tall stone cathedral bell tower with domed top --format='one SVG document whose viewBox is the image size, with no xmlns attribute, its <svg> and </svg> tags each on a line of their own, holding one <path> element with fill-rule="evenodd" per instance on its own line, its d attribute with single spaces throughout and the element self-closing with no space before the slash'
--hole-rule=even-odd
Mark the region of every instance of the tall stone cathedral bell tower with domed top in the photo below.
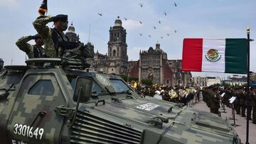
<svg viewBox="0 0 256 144">
<path fill-rule="evenodd" d="M 114 21 L 114 26 L 110 27 L 110 41 L 107 43 L 108 59 L 110 60 L 109 73 L 127 74 L 126 34 L 118 16 Z"/>
</svg>

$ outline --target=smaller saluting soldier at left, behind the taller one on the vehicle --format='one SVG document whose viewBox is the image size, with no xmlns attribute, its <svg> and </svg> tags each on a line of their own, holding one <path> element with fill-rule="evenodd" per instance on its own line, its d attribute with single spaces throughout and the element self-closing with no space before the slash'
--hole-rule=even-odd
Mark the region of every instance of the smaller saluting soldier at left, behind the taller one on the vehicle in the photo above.
<svg viewBox="0 0 256 144">
<path fill-rule="evenodd" d="M 31 45 L 28 43 L 30 40 L 35 40 L 35 45 Z M 46 57 L 45 49 L 42 47 L 43 40 L 40 35 L 29 35 L 21 37 L 17 40 L 16 45 L 20 50 L 26 52 L 28 58 L 38 58 L 38 57 Z"/>
</svg>

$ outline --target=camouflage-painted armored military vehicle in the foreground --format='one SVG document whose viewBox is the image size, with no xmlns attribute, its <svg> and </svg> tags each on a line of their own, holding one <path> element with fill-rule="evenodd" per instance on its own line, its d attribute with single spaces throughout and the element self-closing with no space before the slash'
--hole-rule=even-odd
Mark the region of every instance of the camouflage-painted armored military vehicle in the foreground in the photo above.
<svg viewBox="0 0 256 144">
<path fill-rule="evenodd" d="M 217 115 L 139 96 L 80 60 L 26 63 L 0 76 L 0 143 L 241 143 Z"/>
</svg>

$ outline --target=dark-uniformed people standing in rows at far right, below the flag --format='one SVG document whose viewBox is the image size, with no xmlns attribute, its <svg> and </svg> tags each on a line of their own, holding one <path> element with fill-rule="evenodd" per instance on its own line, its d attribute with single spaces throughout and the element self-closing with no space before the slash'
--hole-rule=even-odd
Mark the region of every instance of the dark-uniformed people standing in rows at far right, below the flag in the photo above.
<svg viewBox="0 0 256 144">
<path fill-rule="evenodd" d="M 250 88 L 247 98 L 245 87 L 206 87 L 203 88 L 203 101 L 210 108 L 210 112 L 219 114 L 220 106 L 228 106 L 235 110 L 238 115 L 246 116 L 248 111 L 250 121 L 256 124 L 256 87 Z M 235 101 L 231 101 L 231 98 Z"/>
</svg>

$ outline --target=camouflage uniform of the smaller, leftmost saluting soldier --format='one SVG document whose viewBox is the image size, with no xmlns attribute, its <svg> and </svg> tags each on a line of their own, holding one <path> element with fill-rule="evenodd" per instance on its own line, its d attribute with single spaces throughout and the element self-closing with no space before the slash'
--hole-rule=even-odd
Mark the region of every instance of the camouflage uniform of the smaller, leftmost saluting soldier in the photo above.
<svg viewBox="0 0 256 144">
<path fill-rule="evenodd" d="M 31 45 L 29 40 L 33 40 L 33 36 L 25 36 L 17 40 L 16 45 L 20 50 L 26 52 L 28 58 L 45 57 L 46 52 L 43 47 L 39 45 Z"/>
</svg>

